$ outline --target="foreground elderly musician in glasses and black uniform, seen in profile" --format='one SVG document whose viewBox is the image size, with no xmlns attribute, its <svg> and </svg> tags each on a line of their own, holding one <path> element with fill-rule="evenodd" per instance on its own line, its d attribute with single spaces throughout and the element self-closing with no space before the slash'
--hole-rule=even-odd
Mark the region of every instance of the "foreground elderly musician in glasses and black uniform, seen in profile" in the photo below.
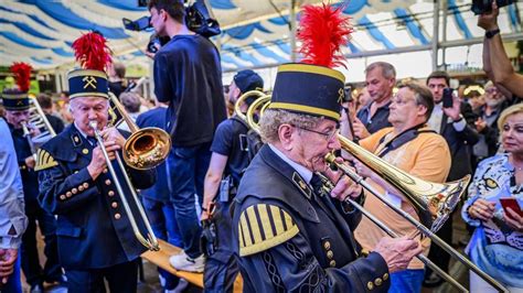
<svg viewBox="0 0 523 293">
<path fill-rule="evenodd" d="M 359 253 L 352 231 L 362 215 L 343 199 L 361 203 L 362 189 L 324 161 L 340 149 L 343 85 L 343 74 L 329 67 L 278 68 L 260 118 L 267 144 L 247 167 L 232 207 L 244 292 L 386 292 L 389 273 L 421 252 L 414 240 L 384 238 L 367 257 Z M 335 183 L 330 194 L 316 172 Z"/>
</svg>

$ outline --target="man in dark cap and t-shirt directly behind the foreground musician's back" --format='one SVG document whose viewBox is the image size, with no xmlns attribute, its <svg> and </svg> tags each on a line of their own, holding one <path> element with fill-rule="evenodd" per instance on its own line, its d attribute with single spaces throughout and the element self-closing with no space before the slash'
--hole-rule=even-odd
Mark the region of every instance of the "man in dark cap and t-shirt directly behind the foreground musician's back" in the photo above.
<svg viewBox="0 0 523 293">
<path fill-rule="evenodd" d="M 263 90 L 264 80 L 253 70 L 242 70 L 234 76 L 230 86 L 228 100 L 234 105 L 242 94 Z M 254 98 L 241 105 L 247 111 Z M 233 292 L 238 267 L 233 254 L 231 214 L 228 208 L 244 170 L 248 166 L 247 124 L 237 117 L 220 123 L 214 135 L 211 164 L 205 176 L 202 220 L 214 223 L 217 246 L 214 253 L 207 251 L 204 270 L 205 292 Z M 222 183 L 222 184 L 221 184 Z M 215 204 L 214 213 L 211 203 Z"/>
</svg>

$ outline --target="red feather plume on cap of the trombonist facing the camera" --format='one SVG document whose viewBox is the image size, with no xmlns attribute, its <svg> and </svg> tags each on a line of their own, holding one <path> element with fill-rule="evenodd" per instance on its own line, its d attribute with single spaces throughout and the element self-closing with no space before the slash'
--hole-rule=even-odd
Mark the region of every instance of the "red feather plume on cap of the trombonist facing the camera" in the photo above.
<svg viewBox="0 0 523 293">
<path fill-rule="evenodd" d="M 90 32 L 76 39 L 73 43 L 74 55 L 84 69 L 105 70 L 110 64 L 110 48 L 107 40 L 97 33 Z"/>
</svg>

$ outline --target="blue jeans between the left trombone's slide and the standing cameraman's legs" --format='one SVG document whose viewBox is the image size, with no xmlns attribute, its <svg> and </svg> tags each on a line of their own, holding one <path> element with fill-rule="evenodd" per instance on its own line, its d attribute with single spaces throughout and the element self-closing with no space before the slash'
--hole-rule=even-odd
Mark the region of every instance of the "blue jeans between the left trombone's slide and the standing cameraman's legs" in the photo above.
<svg viewBox="0 0 523 293">
<path fill-rule="evenodd" d="M 142 203 L 156 237 L 175 247 L 182 247 L 182 239 L 172 205 L 148 197 L 142 197 Z M 179 280 L 177 276 L 160 268 L 158 268 L 158 272 L 166 279 L 164 287 L 167 290 L 172 290 L 177 286 Z"/>
</svg>

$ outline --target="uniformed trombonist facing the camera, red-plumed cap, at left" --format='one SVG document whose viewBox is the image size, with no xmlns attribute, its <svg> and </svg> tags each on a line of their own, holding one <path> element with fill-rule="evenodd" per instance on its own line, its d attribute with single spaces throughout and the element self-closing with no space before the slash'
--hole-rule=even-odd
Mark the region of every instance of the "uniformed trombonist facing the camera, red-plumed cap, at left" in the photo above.
<svg viewBox="0 0 523 293">
<path fill-rule="evenodd" d="M 79 43 L 89 40 L 105 43 L 97 33 L 82 36 Z M 73 47 L 76 48 L 77 42 Z M 81 59 L 93 59 L 89 52 L 76 50 L 76 53 Z M 136 292 L 137 260 L 146 250 L 135 238 L 122 208 L 120 197 L 127 196 L 136 213 L 122 174 L 127 172 L 137 188 L 146 188 L 153 184 L 154 173 L 120 170 L 113 160 L 115 152 L 121 152 L 125 138 L 116 128 L 107 126 L 109 100 L 105 66 L 106 62 L 93 66 L 94 69 L 70 72 L 70 108 L 74 122 L 39 151 L 39 200 L 46 210 L 57 215 L 58 256 L 67 275 L 68 292 L 105 292 L 104 279 L 111 292 Z M 98 123 L 117 178 L 107 172 L 107 162 L 89 126 L 93 120 Z M 118 194 L 115 180 L 121 183 L 125 194 Z"/>
</svg>

